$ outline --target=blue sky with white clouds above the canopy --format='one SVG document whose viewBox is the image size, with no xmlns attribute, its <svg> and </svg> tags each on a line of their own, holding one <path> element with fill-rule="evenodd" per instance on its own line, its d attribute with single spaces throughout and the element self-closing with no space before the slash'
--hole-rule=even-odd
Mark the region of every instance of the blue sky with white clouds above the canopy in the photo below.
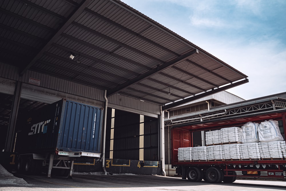
<svg viewBox="0 0 286 191">
<path fill-rule="evenodd" d="M 228 92 L 286 92 L 286 0 L 121 1 L 249 76 Z"/>
</svg>

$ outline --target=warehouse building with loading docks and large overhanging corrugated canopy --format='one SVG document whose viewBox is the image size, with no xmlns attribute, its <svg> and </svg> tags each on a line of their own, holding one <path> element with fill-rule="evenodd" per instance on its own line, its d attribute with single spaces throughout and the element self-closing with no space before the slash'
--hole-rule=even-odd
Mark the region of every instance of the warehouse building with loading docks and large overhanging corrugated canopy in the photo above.
<svg viewBox="0 0 286 191">
<path fill-rule="evenodd" d="M 102 108 L 101 160 L 76 171 L 165 174 L 163 111 L 248 82 L 118 0 L 3 1 L 0 26 L 1 148 L 14 151 L 27 111 L 63 98 Z"/>
</svg>

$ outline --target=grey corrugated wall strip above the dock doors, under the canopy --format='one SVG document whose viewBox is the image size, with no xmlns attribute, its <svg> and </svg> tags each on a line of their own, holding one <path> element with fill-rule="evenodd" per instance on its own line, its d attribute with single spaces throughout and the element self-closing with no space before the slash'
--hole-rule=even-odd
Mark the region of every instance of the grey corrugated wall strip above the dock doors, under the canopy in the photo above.
<svg viewBox="0 0 286 191">
<path fill-rule="evenodd" d="M 33 94 L 31 94 L 31 92 L 35 92 L 35 94 L 41 94 L 41 92 L 43 92 L 40 96 L 43 97 L 43 99 L 46 99 L 45 103 L 53 103 L 52 101 L 57 101 L 59 99 L 62 99 L 63 97 L 66 97 L 70 100 L 94 105 L 97 107 L 102 107 L 105 101 L 104 90 L 53 77 L 47 74 L 34 72 L 31 70 L 28 70 L 21 77 L 19 77 L 18 74 L 18 68 L 0 62 L 0 77 L 26 83 L 23 85 L 22 88 L 23 94 L 21 96 L 23 98 L 35 100 L 39 98 L 39 95 L 33 97 Z M 28 84 L 30 77 L 40 80 L 40 86 Z M 47 89 L 45 90 L 45 88 Z M 59 99 L 53 100 L 49 95 Z M 143 102 L 138 99 L 118 94 L 108 97 L 108 104 L 110 107 L 115 109 L 121 109 L 133 113 L 140 113 L 142 115 L 151 117 L 158 117 L 158 115 L 160 114 L 159 105 Z"/>
</svg>

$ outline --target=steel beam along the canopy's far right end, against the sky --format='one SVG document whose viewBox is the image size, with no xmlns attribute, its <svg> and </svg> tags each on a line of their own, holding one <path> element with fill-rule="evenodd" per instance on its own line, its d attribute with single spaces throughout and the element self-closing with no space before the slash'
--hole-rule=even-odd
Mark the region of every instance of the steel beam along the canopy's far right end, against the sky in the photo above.
<svg viewBox="0 0 286 191">
<path fill-rule="evenodd" d="M 212 94 L 215 94 L 215 93 L 218 93 L 218 92 L 221 92 L 221 91 L 224 91 L 224 90 L 227 90 L 229 88 L 233 88 L 235 86 L 239 86 L 241 84 L 245 84 L 249 82 L 248 79 L 245 79 L 245 80 L 241 80 L 239 82 L 235 82 L 233 84 L 229 84 L 227 86 L 223 86 L 221 88 L 217 88 L 217 89 L 213 89 L 211 91 L 208 91 L 208 92 L 205 92 L 205 93 L 202 93 L 202 94 L 198 94 L 198 95 L 195 95 L 193 97 L 190 97 L 190 98 L 187 98 L 187 99 L 184 99 L 184 100 L 181 100 L 181 101 L 177 101 L 175 103 L 171 103 L 171 104 L 168 104 L 168 105 L 164 105 L 162 107 L 162 110 L 167 110 L 167 109 L 171 109 L 173 107 L 177 107 L 179 105 L 182 105 L 182 104 L 185 104 L 185 103 L 188 103 L 188 102 L 191 102 L 191 101 L 194 101 L 194 100 L 197 100 L 197 99 L 200 99 L 200 98 L 203 98 L 203 97 L 206 97 L 206 96 L 209 96 L 209 95 L 212 95 Z"/>
</svg>

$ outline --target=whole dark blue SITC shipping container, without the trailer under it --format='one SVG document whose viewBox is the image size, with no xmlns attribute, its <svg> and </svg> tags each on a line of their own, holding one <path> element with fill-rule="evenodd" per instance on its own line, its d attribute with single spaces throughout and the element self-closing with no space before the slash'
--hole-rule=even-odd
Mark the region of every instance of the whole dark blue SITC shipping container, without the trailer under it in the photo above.
<svg viewBox="0 0 286 191">
<path fill-rule="evenodd" d="M 85 151 L 100 153 L 103 109 L 63 99 L 27 113 L 15 151 Z"/>
</svg>

